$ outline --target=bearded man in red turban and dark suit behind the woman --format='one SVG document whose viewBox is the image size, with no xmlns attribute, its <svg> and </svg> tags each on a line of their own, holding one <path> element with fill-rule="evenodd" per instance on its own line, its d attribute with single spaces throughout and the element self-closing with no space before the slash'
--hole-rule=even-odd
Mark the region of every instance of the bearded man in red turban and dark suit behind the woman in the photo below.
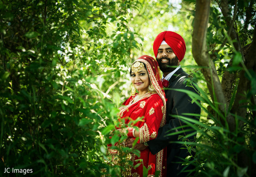
<svg viewBox="0 0 256 177">
<path fill-rule="evenodd" d="M 194 135 L 188 139 L 193 140 L 196 132 L 195 130 L 184 132 L 183 130 L 185 129 L 191 129 L 191 127 L 187 126 L 182 129 L 176 129 L 179 126 L 186 125 L 178 116 L 198 120 L 195 114 L 201 113 L 200 107 L 195 102 L 192 103 L 191 98 L 186 93 L 173 90 L 183 89 L 197 93 L 193 87 L 189 87 L 186 84 L 189 75 L 180 67 L 180 62 L 186 52 L 186 44 L 179 34 L 172 31 L 163 31 L 154 40 L 153 50 L 160 70 L 163 71 L 163 79 L 169 81 L 169 84 L 166 85 L 168 88 L 165 90 L 168 101 L 166 103 L 166 125 L 158 130 L 157 138 L 148 141 L 146 145 L 152 154 L 156 154 L 161 149 L 167 147 L 167 177 L 186 177 L 189 172 L 181 172 L 185 167 L 182 166 L 182 159 L 185 159 L 190 154 L 187 149 L 180 149 L 184 147 L 180 143 L 172 142 L 178 141 L 179 135 L 185 136 L 190 133 L 194 133 Z M 173 132 L 177 132 L 177 134 L 169 135 Z M 129 139 L 126 146 L 131 147 L 132 142 L 133 139 Z M 137 144 L 134 148 L 143 150 L 147 147 L 143 144 Z M 186 170 L 194 171 L 194 166 L 190 165 Z"/>
</svg>

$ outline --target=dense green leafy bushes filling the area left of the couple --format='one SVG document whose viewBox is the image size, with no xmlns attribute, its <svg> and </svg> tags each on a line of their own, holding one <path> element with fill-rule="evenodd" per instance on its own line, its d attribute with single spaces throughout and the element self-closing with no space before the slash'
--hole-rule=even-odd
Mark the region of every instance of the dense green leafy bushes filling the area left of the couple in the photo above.
<svg viewBox="0 0 256 177">
<path fill-rule="evenodd" d="M 125 25 L 125 9 L 137 5 L 0 1 L 1 169 L 32 169 L 31 176 L 42 177 L 116 171 L 104 161 L 101 131 L 106 122 L 113 129 L 121 101 L 109 88 L 139 46 Z M 117 26 L 107 31 L 106 24 Z"/>
</svg>

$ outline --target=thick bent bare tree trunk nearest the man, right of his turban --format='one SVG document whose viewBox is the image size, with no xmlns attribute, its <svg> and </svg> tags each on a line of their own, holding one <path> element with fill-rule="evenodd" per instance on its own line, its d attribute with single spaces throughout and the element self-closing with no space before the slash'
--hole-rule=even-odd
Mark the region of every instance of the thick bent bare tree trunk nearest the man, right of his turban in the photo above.
<svg viewBox="0 0 256 177">
<path fill-rule="evenodd" d="M 215 65 L 209 57 L 206 34 L 209 22 L 210 1 L 196 0 L 195 19 L 192 36 L 192 53 L 195 61 L 199 66 L 207 67 L 202 69 L 202 73 L 207 81 L 207 86 L 213 101 L 217 101 L 218 108 L 224 114 L 227 113 L 228 107 L 221 87 L 221 82 Z M 224 120 L 220 120 L 225 125 Z M 234 119 L 231 115 L 227 115 L 227 121 L 231 125 L 231 129 L 235 127 Z"/>
</svg>

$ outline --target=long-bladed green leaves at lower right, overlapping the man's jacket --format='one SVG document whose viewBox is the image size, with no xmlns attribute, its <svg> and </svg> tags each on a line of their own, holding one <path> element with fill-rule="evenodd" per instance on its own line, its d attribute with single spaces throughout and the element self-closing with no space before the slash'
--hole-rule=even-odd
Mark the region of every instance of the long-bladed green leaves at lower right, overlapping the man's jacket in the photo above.
<svg viewBox="0 0 256 177">
<path fill-rule="evenodd" d="M 202 79 L 197 73 L 194 76 Z M 218 103 L 212 103 L 204 90 L 198 86 L 196 89 L 200 95 L 188 90 L 177 90 L 188 94 L 192 100 L 198 100 L 195 103 L 202 110 L 201 115 L 197 115 L 200 117 L 198 120 L 187 118 L 186 115 L 192 115 L 190 113 L 176 116 L 186 123 L 185 126 L 177 127 L 177 129 L 184 128 L 184 132 L 189 132 L 191 129 L 197 131 L 196 136 L 195 134 L 180 135 L 179 139 L 182 141 L 173 142 L 182 144 L 190 153 L 190 156 L 182 159 L 181 162 L 183 165 L 195 166 L 195 176 L 197 177 L 205 177 L 206 175 L 209 177 L 253 176 L 255 174 L 253 166 L 256 164 L 256 122 L 250 116 L 251 112 L 255 110 L 255 105 L 253 107 L 248 105 L 246 118 L 233 115 L 236 118 L 236 123 L 240 122 L 242 127 L 236 126 L 235 131 L 230 131 L 227 116 L 231 113 L 221 112 L 218 109 Z M 205 105 L 211 107 L 213 112 L 210 112 Z M 226 124 L 222 124 L 221 121 L 225 121 Z M 186 129 L 187 126 L 191 129 Z M 175 133 L 171 135 L 175 135 Z M 189 140 L 188 138 L 191 136 L 195 136 L 195 140 Z M 250 164 L 250 166 L 241 166 L 241 162 Z M 186 166 L 182 171 L 186 171 Z"/>
</svg>

